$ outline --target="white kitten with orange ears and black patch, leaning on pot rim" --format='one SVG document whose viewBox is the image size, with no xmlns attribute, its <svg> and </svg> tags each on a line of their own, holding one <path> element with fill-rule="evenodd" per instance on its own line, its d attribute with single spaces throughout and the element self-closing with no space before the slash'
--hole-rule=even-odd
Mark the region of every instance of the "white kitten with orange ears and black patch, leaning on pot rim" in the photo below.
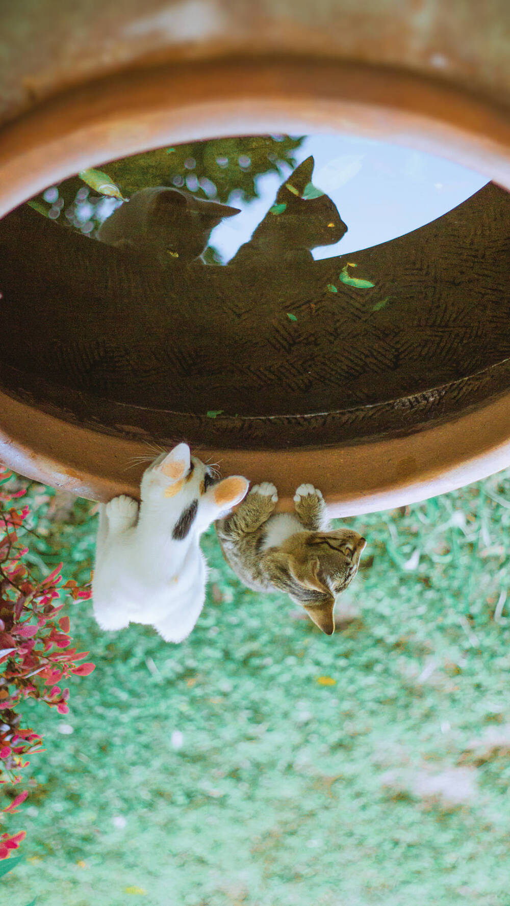
<svg viewBox="0 0 510 906">
<path fill-rule="evenodd" d="M 105 630 L 149 624 L 165 641 L 182 641 L 205 599 L 202 532 L 245 496 L 241 476 L 217 481 L 187 444 L 145 470 L 141 504 L 114 497 L 100 509 L 93 575 L 93 612 Z"/>
</svg>

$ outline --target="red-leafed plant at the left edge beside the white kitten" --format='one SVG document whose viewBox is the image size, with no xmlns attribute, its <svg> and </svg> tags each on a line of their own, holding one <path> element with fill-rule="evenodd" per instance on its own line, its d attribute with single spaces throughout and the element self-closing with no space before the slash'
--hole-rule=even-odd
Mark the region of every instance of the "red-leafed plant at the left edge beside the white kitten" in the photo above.
<svg viewBox="0 0 510 906">
<path fill-rule="evenodd" d="M 69 647 L 69 617 L 59 616 L 65 606 L 59 602 L 63 592 L 75 601 L 90 598 L 91 591 L 74 580 L 61 584 L 62 564 L 40 581 L 31 575 L 23 562 L 27 548 L 18 537 L 29 508 L 11 506 L 25 494 L 5 487 L 11 476 L 0 464 L 0 784 L 20 783 L 26 756 L 43 751 L 42 737 L 20 727 L 18 702 L 39 699 L 67 714 L 69 689 L 56 684 L 94 669 L 93 663 L 78 663 L 89 652 Z M 4 808 L 0 803 L 0 822 L 5 814 L 14 814 L 27 795 L 20 793 Z M 8 858 L 24 837 L 25 831 L 0 834 L 0 859 Z"/>
</svg>

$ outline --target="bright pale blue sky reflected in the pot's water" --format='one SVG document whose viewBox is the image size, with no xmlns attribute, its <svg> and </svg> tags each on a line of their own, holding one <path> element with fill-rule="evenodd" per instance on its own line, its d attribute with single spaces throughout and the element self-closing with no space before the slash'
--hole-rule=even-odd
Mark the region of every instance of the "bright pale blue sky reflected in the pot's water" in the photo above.
<svg viewBox="0 0 510 906">
<path fill-rule="evenodd" d="M 336 246 L 316 249 L 314 258 L 344 255 L 403 236 L 446 214 L 487 181 L 448 160 L 368 139 L 312 135 L 295 153 L 299 163 L 313 154 L 314 185 L 333 199 L 348 225 Z M 231 193 L 229 203 L 242 212 L 211 233 L 211 245 L 224 262 L 265 217 L 281 181 L 276 173 L 260 176 L 260 198 L 248 204 Z"/>
</svg>

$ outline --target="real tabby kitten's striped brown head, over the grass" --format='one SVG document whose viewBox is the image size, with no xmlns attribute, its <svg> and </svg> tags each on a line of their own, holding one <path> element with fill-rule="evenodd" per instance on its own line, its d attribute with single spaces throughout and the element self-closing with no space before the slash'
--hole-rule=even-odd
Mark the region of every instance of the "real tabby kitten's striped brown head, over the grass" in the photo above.
<svg viewBox="0 0 510 906">
<path fill-rule="evenodd" d="M 292 601 L 304 607 L 327 635 L 335 631 L 333 609 L 358 573 L 359 557 L 367 542 L 348 528 L 331 532 L 299 532 L 282 545 L 280 564 L 284 587 Z"/>
</svg>

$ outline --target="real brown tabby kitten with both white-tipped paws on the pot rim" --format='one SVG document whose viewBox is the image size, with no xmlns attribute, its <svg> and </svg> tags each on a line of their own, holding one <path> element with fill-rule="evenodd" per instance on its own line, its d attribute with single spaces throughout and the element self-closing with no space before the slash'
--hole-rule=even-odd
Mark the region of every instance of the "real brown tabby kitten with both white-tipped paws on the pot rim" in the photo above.
<svg viewBox="0 0 510 906">
<path fill-rule="evenodd" d="M 234 514 L 216 523 L 225 559 L 253 591 L 287 592 L 331 635 L 336 597 L 358 572 L 365 538 L 330 529 L 323 497 L 312 485 L 299 485 L 295 514 L 273 514 L 277 501 L 270 482 L 255 485 Z"/>
</svg>

